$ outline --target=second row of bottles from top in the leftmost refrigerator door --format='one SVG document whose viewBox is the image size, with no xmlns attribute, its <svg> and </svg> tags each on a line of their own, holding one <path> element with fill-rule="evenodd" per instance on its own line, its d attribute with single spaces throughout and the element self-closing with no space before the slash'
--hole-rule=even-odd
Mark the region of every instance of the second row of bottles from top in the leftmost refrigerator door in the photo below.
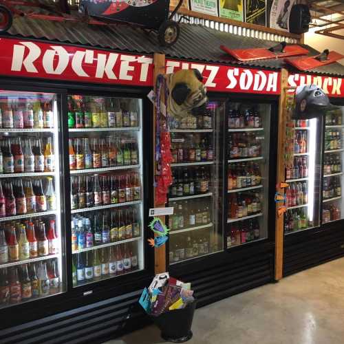
<svg viewBox="0 0 344 344">
<path fill-rule="evenodd" d="M 53 172 L 55 169 L 50 137 L 2 138 L 0 148 L 0 173 Z"/>
</svg>

